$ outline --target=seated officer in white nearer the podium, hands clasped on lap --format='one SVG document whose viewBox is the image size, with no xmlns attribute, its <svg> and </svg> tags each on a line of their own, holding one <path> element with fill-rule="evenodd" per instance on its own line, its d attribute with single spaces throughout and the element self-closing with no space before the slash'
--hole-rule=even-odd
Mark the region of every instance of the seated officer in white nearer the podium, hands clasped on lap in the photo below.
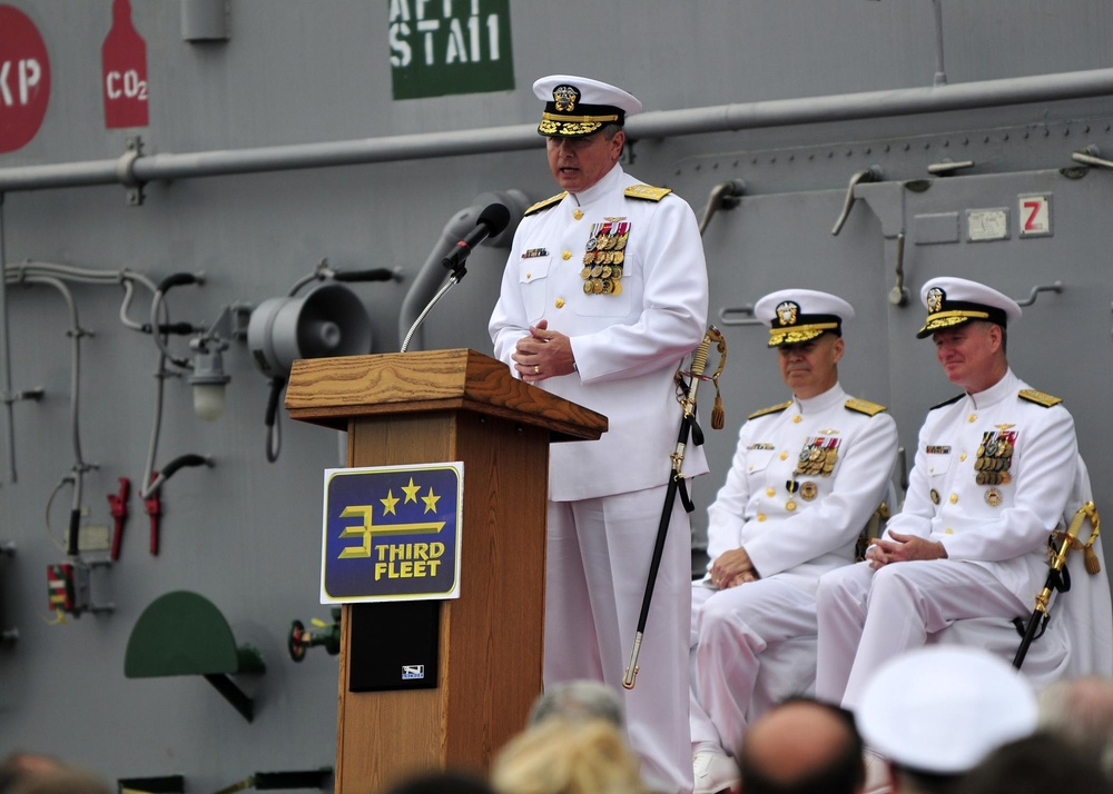
<svg viewBox="0 0 1113 794">
<path fill-rule="evenodd" d="M 819 576 L 854 562 L 855 540 L 888 489 L 897 431 L 885 408 L 838 381 L 843 321 L 834 295 L 786 289 L 761 298 L 787 403 L 749 417 L 727 482 L 708 508 L 708 573 L 692 593 L 692 766 L 697 794 L 737 786 L 733 756 L 764 661 L 816 634 Z M 810 685 L 815 646 L 778 664 Z M 797 658 L 801 656 L 801 658 Z M 784 693 L 802 694 L 802 693 Z"/>
</svg>

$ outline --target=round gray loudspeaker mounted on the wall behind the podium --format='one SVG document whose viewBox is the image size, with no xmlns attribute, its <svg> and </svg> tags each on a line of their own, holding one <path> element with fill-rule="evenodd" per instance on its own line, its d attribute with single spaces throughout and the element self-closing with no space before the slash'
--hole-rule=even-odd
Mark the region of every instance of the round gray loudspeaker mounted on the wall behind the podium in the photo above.
<svg viewBox="0 0 1113 794">
<path fill-rule="evenodd" d="M 298 358 L 371 353 L 371 318 L 363 301 L 329 281 L 303 298 L 270 298 L 252 312 L 247 347 L 270 378 L 289 376 Z"/>
</svg>

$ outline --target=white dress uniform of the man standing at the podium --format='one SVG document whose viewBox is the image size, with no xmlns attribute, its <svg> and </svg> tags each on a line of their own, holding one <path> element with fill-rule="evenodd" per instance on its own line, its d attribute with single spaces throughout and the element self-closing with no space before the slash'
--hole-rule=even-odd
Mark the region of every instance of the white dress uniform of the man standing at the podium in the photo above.
<svg viewBox="0 0 1113 794">
<path fill-rule="evenodd" d="M 583 274 L 585 256 L 595 250 L 622 255 L 610 257 L 608 276 L 602 268 Z M 593 279 L 610 281 L 605 291 L 603 285 L 594 290 Z M 692 787 L 691 554 L 679 498 L 641 672 L 633 689 L 623 689 L 621 681 L 680 428 L 673 376 L 703 337 L 707 304 L 691 208 L 667 190 L 640 186 L 615 165 L 591 188 L 528 210 L 490 322 L 494 354 L 508 365 L 539 320 L 568 335 L 578 371 L 539 385 L 609 420 L 599 440 L 555 444 L 550 451 L 545 683 L 593 678 L 613 685 L 623 694 L 630 742 L 647 777 L 670 792 Z M 707 472 L 702 450 L 692 444 L 683 472 Z"/>
</svg>

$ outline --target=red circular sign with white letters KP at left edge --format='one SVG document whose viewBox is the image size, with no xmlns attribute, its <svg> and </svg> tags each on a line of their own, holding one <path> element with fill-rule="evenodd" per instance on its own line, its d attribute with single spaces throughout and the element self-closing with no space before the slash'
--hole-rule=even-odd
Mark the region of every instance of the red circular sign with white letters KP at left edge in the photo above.
<svg viewBox="0 0 1113 794">
<path fill-rule="evenodd" d="M 42 126 L 50 99 L 50 61 L 35 22 L 0 6 L 0 152 L 16 151 Z"/>
</svg>

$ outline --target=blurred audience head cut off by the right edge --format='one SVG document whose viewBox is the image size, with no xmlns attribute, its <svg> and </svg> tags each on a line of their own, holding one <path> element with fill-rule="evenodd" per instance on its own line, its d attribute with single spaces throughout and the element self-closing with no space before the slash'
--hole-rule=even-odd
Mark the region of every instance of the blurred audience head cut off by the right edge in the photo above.
<svg viewBox="0 0 1113 794">
<path fill-rule="evenodd" d="M 1040 727 L 1096 757 L 1113 780 L 1113 679 L 1057 681 L 1037 695 Z"/>
</svg>

